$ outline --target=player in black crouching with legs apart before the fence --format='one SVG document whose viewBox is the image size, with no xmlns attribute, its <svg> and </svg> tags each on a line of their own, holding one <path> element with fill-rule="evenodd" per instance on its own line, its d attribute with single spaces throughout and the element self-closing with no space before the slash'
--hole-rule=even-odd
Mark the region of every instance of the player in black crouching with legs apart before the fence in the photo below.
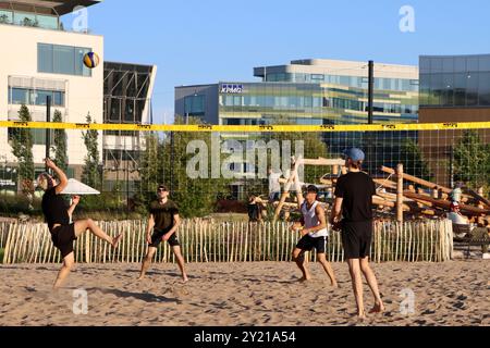
<svg viewBox="0 0 490 348">
<path fill-rule="evenodd" d="M 143 279 L 146 271 L 151 264 L 151 259 L 157 252 L 161 241 L 167 241 L 172 248 L 179 268 L 182 272 L 182 278 L 187 282 L 187 275 L 184 269 L 184 258 L 182 257 L 181 246 L 176 236 L 176 231 L 181 224 L 179 217 L 179 208 L 169 199 L 169 189 L 166 185 L 158 186 L 157 200 L 149 207 L 149 219 L 146 227 L 146 240 L 148 241 L 148 252 L 143 260 L 142 272 L 138 281 Z M 151 234 L 152 232 L 152 234 Z"/>
</svg>

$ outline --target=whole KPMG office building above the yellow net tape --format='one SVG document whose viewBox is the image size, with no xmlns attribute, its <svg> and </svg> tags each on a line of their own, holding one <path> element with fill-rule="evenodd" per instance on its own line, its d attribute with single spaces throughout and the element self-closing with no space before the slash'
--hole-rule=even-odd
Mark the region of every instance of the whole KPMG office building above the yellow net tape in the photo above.
<svg viewBox="0 0 490 348">
<path fill-rule="evenodd" d="M 418 69 L 375 66 L 373 122 L 417 122 Z M 298 60 L 254 75 L 261 82 L 175 87 L 175 113 L 222 125 L 367 123 L 367 62 Z"/>
</svg>

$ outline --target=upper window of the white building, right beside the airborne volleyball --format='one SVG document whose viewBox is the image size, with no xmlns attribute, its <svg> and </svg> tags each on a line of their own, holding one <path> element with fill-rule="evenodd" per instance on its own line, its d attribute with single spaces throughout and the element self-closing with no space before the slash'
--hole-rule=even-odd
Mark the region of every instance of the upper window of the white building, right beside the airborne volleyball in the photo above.
<svg viewBox="0 0 490 348">
<path fill-rule="evenodd" d="M 89 48 L 38 44 L 37 70 L 39 73 L 91 76 L 91 71 L 84 65 L 85 53 Z"/>
</svg>

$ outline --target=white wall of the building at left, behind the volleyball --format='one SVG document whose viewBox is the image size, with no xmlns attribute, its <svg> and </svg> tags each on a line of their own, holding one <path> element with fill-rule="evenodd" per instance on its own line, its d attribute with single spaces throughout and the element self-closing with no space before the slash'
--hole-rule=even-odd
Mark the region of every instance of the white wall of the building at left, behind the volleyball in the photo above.
<svg viewBox="0 0 490 348">
<path fill-rule="evenodd" d="M 90 48 L 100 62 L 91 76 L 46 74 L 37 71 L 37 44 L 64 45 Z M 59 109 L 64 122 L 85 123 L 89 112 L 97 123 L 103 122 L 103 37 L 78 33 L 58 32 L 15 25 L 0 25 L 0 120 L 15 120 L 20 105 L 9 105 L 9 77 L 36 78 L 65 84 L 65 108 L 51 107 L 51 119 Z M 45 121 L 46 107 L 28 105 L 34 121 Z M 70 165 L 83 164 L 86 149 L 79 130 L 68 130 Z M 102 153 L 102 135 L 99 134 L 99 151 Z M 8 129 L 0 128 L 0 158 L 14 162 L 8 144 Z M 34 161 L 41 164 L 45 147 L 34 147 Z"/>
</svg>

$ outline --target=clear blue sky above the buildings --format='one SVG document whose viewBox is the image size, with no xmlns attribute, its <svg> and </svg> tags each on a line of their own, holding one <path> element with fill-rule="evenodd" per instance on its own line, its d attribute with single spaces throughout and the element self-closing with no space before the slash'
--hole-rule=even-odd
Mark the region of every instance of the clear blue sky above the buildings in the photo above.
<svg viewBox="0 0 490 348">
<path fill-rule="evenodd" d="M 403 5 L 415 33 L 399 28 Z M 173 120 L 175 86 L 256 80 L 254 66 L 490 53 L 488 0 L 105 0 L 88 14 L 106 60 L 158 65 L 156 123 Z"/>
</svg>

